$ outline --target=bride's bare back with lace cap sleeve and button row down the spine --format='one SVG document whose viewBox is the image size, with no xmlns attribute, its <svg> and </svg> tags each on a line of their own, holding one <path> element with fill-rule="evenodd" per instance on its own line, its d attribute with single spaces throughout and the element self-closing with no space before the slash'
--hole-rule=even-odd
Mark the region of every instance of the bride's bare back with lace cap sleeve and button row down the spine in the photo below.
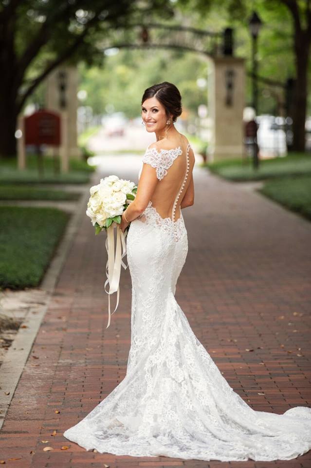
<svg viewBox="0 0 311 468">
<path fill-rule="evenodd" d="M 177 221 L 195 163 L 187 138 L 180 134 L 174 141 L 159 141 L 149 145 L 143 162 L 156 168 L 159 179 L 150 200 L 152 206 L 162 218 L 169 217 Z"/>
</svg>

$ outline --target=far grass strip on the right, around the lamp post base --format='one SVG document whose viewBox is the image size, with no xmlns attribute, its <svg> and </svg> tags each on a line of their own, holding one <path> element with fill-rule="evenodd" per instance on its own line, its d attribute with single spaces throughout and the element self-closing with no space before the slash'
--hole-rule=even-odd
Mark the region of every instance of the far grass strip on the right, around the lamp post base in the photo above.
<svg viewBox="0 0 311 468">
<path fill-rule="evenodd" d="M 291 153 L 289 156 L 264 159 L 259 169 L 252 167 L 250 159 L 241 158 L 202 164 L 203 167 L 233 181 L 260 180 L 273 177 L 311 175 L 311 154 Z"/>
</svg>

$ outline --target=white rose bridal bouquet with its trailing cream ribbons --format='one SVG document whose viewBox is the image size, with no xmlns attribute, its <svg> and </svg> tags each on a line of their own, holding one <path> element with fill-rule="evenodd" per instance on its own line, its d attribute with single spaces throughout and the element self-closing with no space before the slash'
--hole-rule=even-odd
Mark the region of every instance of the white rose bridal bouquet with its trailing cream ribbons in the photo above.
<svg viewBox="0 0 311 468">
<path fill-rule="evenodd" d="M 105 291 L 108 295 L 108 325 L 110 326 L 110 317 L 119 304 L 119 281 L 121 265 L 126 270 L 127 265 L 122 258 L 126 254 L 125 238 L 128 233 L 128 227 L 125 234 L 121 231 L 121 215 L 127 209 L 129 203 L 135 199 L 137 186 L 130 180 L 120 179 L 118 176 L 108 176 L 100 179 L 98 185 L 90 188 L 90 199 L 87 205 L 86 214 L 91 218 L 91 223 L 95 227 L 95 234 L 101 231 L 107 231 L 106 250 L 108 260 L 106 264 L 107 280 L 105 282 Z M 114 229 L 116 228 L 116 249 L 114 252 Z M 123 252 L 121 252 L 121 246 Z M 109 283 L 109 291 L 106 286 Z M 110 294 L 117 292 L 117 303 L 115 309 L 110 313 Z"/>
</svg>

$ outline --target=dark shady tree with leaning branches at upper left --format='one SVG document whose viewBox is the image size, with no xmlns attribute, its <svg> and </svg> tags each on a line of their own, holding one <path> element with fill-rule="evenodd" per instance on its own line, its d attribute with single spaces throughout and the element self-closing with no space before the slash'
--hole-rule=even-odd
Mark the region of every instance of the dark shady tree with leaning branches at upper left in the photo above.
<svg viewBox="0 0 311 468">
<path fill-rule="evenodd" d="M 166 0 L 1 0 L 0 156 L 16 154 L 18 114 L 52 70 L 102 60 L 98 38 L 151 12 L 172 15 Z"/>
</svg>

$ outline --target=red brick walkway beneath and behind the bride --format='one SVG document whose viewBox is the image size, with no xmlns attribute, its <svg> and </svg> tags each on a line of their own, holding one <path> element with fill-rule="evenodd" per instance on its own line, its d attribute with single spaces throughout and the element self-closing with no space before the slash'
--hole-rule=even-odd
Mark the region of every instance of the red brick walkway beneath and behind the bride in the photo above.
<svg viewBox="0 0 311 468">
<path fill-rule="evenodd" d="M 100 176 L 137 181 L 138 159 L 130 166 L 125 161 L 107 160 Z M 189 252 L 178 281 L 179 304 L 252 408 L 282 413 L 310 406 L 311 224 L 245 185 L 199 168 L 194 177 L 195 205 L 183 211 Z M 311 451 L 270 463 L 117 457 L 87 452 L 61 435 L 126 373 L 130 276 L 122 270 L 120 305 L 106 330 L 104 240 L 104 234 L 94 237 L 83 217 L 1 431 L 6 466 L 310 468 Z M 62 450 L 64 445 L 69 448 Z M 53 450 L 43 451 L 47 446 Z"/>
</svg>

